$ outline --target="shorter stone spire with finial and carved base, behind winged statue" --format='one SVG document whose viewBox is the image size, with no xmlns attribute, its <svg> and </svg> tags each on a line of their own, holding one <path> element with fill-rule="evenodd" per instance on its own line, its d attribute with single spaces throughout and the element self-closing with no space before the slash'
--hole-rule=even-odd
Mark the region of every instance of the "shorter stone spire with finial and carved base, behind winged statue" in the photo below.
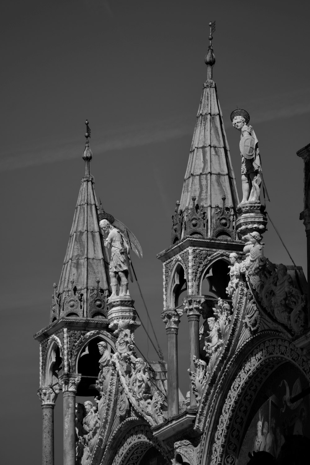
<svg viewBox="0 0 310 465">
<path fill-rule="evenodd" d="M 83 153 L 85 176 L 81 179 L 79 197 L 58 290 L 54 285 L 51 321 L 60 317 L 105 318 L 108 296 L 108 259 L 99 229 L 99 205 L 90 174 L 92 151 L 86 120 L 86 145 Z"/>
</svg>

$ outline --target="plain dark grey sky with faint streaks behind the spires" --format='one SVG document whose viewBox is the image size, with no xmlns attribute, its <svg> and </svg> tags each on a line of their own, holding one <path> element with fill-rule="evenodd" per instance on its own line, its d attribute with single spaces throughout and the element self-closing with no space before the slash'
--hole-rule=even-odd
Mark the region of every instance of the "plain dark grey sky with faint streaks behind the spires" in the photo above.
<svg viewBox="0 0 310 465">
<path fill-rule="evenodd" d="M 133 263 L 166 351 L 162 266 L 156 254 L 170 245 L 171 215 L 181 195 L 206 80 L 211 20 L 216 20 L 213 77 L 237 186 L 240 136 L 231 127 L 230 113 L 238 106 L 250 113 L 259 140 L 271 199 L 268 213 L 306 271 L 306 237 L 299 221 L 303 161 L 296 152 L 310 142 L 309 9 L 301 0 L 16 0 L 4 5 L 3 463 L 41 460 L 39 344 L 32 336 L 49 322 L 53 282 L 59 280 L 84 174 L 86 118 L 97 197 L 141 243 L 144 257 L 133 257 Z M 264 242 L 271 261 L 290 264 L 271 225 Z M 145 315 L 136 287 L 130 291 Z M 182 323 L 184 359 L 188 336 L 186 320 Z M 136 342 L 146 355 L 142 329 Z M 152 346 L 148 355 L 155 358 Z M 186 376 L 180 374 L 184 391 Z M 59 396 L 55 463 L 62 461 L 61 402 Z M 12 445 L 16 431 L 18 448 Z"/>
</svg>

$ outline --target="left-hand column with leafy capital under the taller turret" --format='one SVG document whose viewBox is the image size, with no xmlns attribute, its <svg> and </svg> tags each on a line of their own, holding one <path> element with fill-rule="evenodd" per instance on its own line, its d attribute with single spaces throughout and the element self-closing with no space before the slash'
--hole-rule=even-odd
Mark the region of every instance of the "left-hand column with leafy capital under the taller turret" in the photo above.
<svg viewBox="0 0 310 465">
<path fill-rule="evenodd" d="M 168 419 L 178 415 L 178 325 L 181 310 L 165 310 L 161 314 L 166 325 L 168 338 L 168 362 L 167 362 L 167 403 Z"/>
</svg>

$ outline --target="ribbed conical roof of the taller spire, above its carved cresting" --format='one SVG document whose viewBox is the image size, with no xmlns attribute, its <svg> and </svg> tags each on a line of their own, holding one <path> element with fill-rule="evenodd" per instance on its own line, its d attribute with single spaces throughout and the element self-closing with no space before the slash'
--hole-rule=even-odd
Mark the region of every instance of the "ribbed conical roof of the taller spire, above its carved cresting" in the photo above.
<svg viewBox="0 0 310 465">
<path fill-rule="evenodd" d="M 216 83 L 212 79 L 212 66 L 215 63 L 212 45 L 209 46 L 205 62 L 208 79 L 204 83 L 198 108 L 178 211 L 186 217 L 186 208 L 192 208 L 194 201 L 196 209 L 199 206 L 205 212 L 206 236 L 214 237 L 215 229 L 218 229 L 213 218 L 215 210 L 218 211 L 217 206 L 224 207 L 227 212 L 230 208 L 235 213 L 239 199 Z M 185 218 L 182 236 L 185 234 L 184 224 Z"/>
</svg>

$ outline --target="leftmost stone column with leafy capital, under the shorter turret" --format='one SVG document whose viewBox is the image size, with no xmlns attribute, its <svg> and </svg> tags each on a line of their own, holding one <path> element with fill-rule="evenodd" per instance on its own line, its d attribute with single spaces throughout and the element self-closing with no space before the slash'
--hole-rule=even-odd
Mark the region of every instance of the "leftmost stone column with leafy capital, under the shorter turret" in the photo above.
<svg viewBox="0 0 310 465">
<path fill-rule="evenodd" d="M 44 386 L 38 390 L 42 407 L 42 465 L 54 465 L 54 406 L 59 391 Z"/>
</svg>

